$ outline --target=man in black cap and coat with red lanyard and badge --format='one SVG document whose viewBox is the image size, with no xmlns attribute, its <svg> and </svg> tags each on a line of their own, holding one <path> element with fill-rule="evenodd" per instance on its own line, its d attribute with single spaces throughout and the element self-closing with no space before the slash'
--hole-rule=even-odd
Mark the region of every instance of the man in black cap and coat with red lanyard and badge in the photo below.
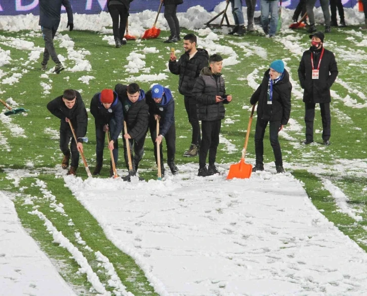
<svg viewBox="0 0 367 296">
<path fill-rule="evenodd" d="M 306 140 L 303 144 L 313 143 L 313 120 L 315 105 L 320 104 L 323 122 L 323 142 L 330 145 L 331 116 L 330 116 L 330 88 L 338 76 L 335 56 L 323 47 L 324 33 L 315 32 L 309 35 L 311 47 L 303 53 L 298 67 L 298 77 L 305 103 Z"/>
</svg>

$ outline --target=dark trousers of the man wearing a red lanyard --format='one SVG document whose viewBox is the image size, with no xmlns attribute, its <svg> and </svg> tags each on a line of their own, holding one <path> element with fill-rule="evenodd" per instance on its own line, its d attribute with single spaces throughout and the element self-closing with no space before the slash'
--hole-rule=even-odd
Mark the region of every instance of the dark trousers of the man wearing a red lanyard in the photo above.
<svg viewBox="0 0 367 296">
<path fill-rule="evenodd" d="M 315 118 L 314 103 L 305 103 L 304 122 L 306 123 L 306 140 L 313 141 L 313 119 Z M 321 120 L 323 122 L 323 140 L 327 141 L 331 135 L 330 103 L 320 103 Z"/>
</svg>

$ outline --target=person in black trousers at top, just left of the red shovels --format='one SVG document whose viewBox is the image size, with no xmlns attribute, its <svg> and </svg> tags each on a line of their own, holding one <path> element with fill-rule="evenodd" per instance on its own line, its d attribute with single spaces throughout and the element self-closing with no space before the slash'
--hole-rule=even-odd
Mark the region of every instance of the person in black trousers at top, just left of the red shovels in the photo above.
<svg viewBox="0 0 367 296">
<path fill-rule="evenodd" d="M 112 18 L 113 37 L 116 48 L 126 45 L 124 38 L 130 3 L 133 0 L 108 0 L 107 8 Z"/>
</svg>

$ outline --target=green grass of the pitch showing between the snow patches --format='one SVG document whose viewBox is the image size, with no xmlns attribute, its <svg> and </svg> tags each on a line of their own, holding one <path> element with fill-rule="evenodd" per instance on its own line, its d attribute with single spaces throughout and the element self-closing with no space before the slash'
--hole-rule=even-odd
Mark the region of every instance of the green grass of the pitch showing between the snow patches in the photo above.
<svg viewBox="0 0 367 296">
<path fill-rule="evenodd" d="M 318 29 L 322 29 L 322 27 Z M 334 49 L 337 47 L 345 47 L 350 51 L 365 51 L 363 48 L 355 46 L 350 40 L 345 39 L 348 35 L 342 32 L 350 29 L 356 29 L 356 27 L 335 29 L 332 33 L 327 34 L 326 48 L 332 49 L 334 52 L 336 52 Z M 184 32 L 188 31 L 184 30 Z M 27 32 L 2 33 L 6 37 L 20 37 Z M 85 275 L 76 273 L 79 267 L 73 259 L 69 258 L 70 254 L 66 249 L 53 243 L 53 238 L 45 231 L 43 222 L 37 216 L 28 214 L 32 207 L 30 205 L 24 205 L 24 198 L 27 195 L 39 197 L 35 201 L 35 204 L 39 205 L 39 210 L 47 216 L 54 226 L 59 231 L 62 231 L 74 245 L 77 245 L 74 233 L 78 231 L 89 247 L 93 248 L 94 251 L 100 250 L 103 255 L 108 257 L 129 291 L 133 292 L 135 295 L 143 295 L 146 293 L 154 294 L 153 288 L 149 286 L 143 272 L 136 266 L 131 258 L 126 256 L 106 238 L 103 230 L 93 216 L 91 216 L 76 198 L 73 197 L 71 192 L 64 187 L 63 180 L 55 179 L 54 175 L 45 172 L 46 168 L 52 169 L 55 165 L 60 164 L 62 159 L 58 141 L 50 139 L 50 135 L 44 133 L 45 128 L 51 128 L 58 131 L 60 122 L 48 112 L 45 106 L 50 100 L 60 96 L 64 89 L 72 88 L 82 90 L 81 94 L 84 103 L 86 107 L 89 108 L 90 100 L 95 93 L 100 92 L 104 88 L 114 88 L 115 84 L 118 82 L 127 84 L 126 78 L 128 78 L 130 74 L 125 72 L 123 66 L 128 63 L 126 58 L 131 51 L 142 53 L 145 47 L 156 47 L 159 50 L 158 54 L 146 54 L 145 67 L 148 68 L 153 66 L 154 68 L 152 68 L 150 72 L 150 74 L 153 74 L 163 72 L 166 69 L 165 64 L 168 62 L 169 58 L 169 48 L 167 47 L 174 46 L 175 49 L 181 49 L 181 53 L 183 50 L 179 43 L 168 46 L 162 43 L 168 36 L 168 32 L 162 32 L 158 39 L 144 40 L 141 43 L 128 41 L 128 44 L 121 49 L 115 49 L 109 46 L 106 41 L 102 40 L 102 35 L 96 32 L 72 31 L 68 32 L 68 34 L 75 42 L 75 50 L 84 49 L 90 52 L 90 55 L 87 55 L 85 59 L 90 62 L 92 71 L 75 73 L 63 71 L 59 75 L 49 75 L 48 79 L 40 78 L 40 58 L 37 62 L 31 64 L 30 67 L 25 67 L 28 72 L 20 78 L 19 83 L 15 83 L 12 86 L 1 84 L 1 91 L 6 92 L 2 95 L 2 99 L 6 100 L 12 97 L 16 102 L 21 104 L 21 107 L 25 107 L 30 111 L 27 113 L 27 116 L 23 116 L 24 114 L 12 116 L 12 123 L 21 126 L 27 138 L 15 137 L 14 131 L 9 129 L 6 124 L 0 126 L 0 134 L 7 139 L 8 145 L 11 147 L 11 151 L 4 151 L 3 149 L 3 152 L 0 154 L 0 190 L 8 190 L 18 194 L 15 200 L 15 206 L 23 226 L 29 231 L 30 235 L 39 243 L 48 256 L 53 259 L 61 275 L 67 282 L 76 287 L 75 289 L 79 291 L 80 295 L 94 294 L 95 292 L 89 291 L 90 284 L 86 281 Z M 355 39 L 359 38 L 356 36 L 354 37 Z M 360 41 L 362 40 L 361 38 L 359 39 Z M 41 37 L 27 37 L 27 40 L 32 41 L 35 46 L 43 46 Z M 245 48 L 243 48 L 241 45 L 231 45 L 229 41 L 233 41 L 234 43 L 247 43 L 248 45 L 245 45 Z M 217 153 L 217 162 L 233 163 L 238 162 L 241 157 L 245 130 L 247 129 L 250 115 L 248 108 L 243 109 L 243 106 L 249 107 L 249 100 L 254 91 L 248 86 L 247 80 L 243 80 L 243 78 L 246 78 L 255 69 L 259 69 L 257 73 L 258 78 L 256 79 L 256 82 L 259 83 L 263 72 L 272 60 L 291 58 L 286 61 L 287 69 L 290 70 L 292 79 L 298 82 L 297 68 L 300 57 L 295 56 L 283 43 L 278 42 L 277 39 L 264 38 L 258 34 L 249 34 L 244 37 L 225 36 L 223 39 L 216 41 L 216 43 L 226 46 L 230 45 L 238 54 L 238 60 L 241 60 L 241 63 L 227 67 L 224 66 L 223 69 L 227 93 L 232 94 L 234 98 L 233 102 L 226 106 L 226 117 L 233 120 L 239 120 L 235 121 L 233 124 L 223 123 L 221 134 L 225 139 L 231 140 L 231 143 L 236 145 L 238 152 L 229 154 L 225 146 L 220 144 Z M 295 43 L 299 43 L 302 48 L 306 50 L 309 46 L 308 34 L 304 33 L 302 39 L 295 41 Z M 139 44 L 143 44 L 144 46 L 138 46 Z M 24 62 L 28 59 L 29 52 L 25 50 L 16 50 L 6 45 L 2 45 L 1 48 L 11 51 L 12 64 L 0 68 L 5 72 L 9 72 L 10 76 L 14 72 L 21 72 L 24 69 Z M 56 41 L 56 49 L 58 54 L 64 57 L 67 56 L 66 49 L 58 47 L 58 41 Z M 262 57 L 257 54 L 259 49 L 265 50 L 267 56 Z M 245 55 L 249 51 L 252 51 L 253 54 L 250 57 L 246 57 Z M 177 55 L 179 56 L 179 54 Z M 227 56 L 223 55 L 223 57 L 226 58 Z M 365 74 L 367 61 L 363 59 L 358 63 L 348 61 L 338 54 L 336 55 L 336 59 L 340 70 L 338 77 L 347 82 L 351 88 L 359 90 L 366 95 L 364 91 L 365 83 L 363 74 Z M 353 63 L 357 65 L 351 66 L 350 64 Z M 73 61 L 67 60 L 65 65 L 67 67 L 72 67 L 74 64 Z M 33 69 L 31 67 L 33 67 Z M 53 67 L 52 61 L 50 61 L 49 67 Z M 161 83 L 165 86 L 169 86 L 174 92 L 173 94 L 176 100 L 176 163 L 196 163 L 198 161 L 197 158 L 182 157 L 183 152 L 185 152 L 191 143 L 191 126 L 188 122 L 185 107 L 183 105 L 183 97 L 179 95 L 177 91 L 178 76 L 168 72 L 163 73 L 167 74 L 168 79 L 162 80 Z M 137 76 L 140 74 L 143 73 L 140 72 L 133 75 Z M 77 80 L 82 75 L 91 75 L 94 76 L 95 79 L 90 80 L 89 85 L 87 85 Z M 64 79 L 66 77 L 69 77 L 69 79 Z M 4 77 L 2 79 L 4 79 Z M 49 82 L 49 79 L 52 79 L 52 83 Z M 47 82 L 52 85 L 50 95 L 43 95 L 43 88 L 40 86 L 40 82 Z M 139 82 L 139 84 L 142 89 L 147 91 L 153 82 Z M 349 95 L 352 99 L 357 100 L 358 103 L 364 103 L 356 94 L 349 92 L 339 83 L 335 83 L 332 90 L 336 91 L 341 98 Z M 298 91 L 300 91 L 300 89 L 298 89 Z M 304 140 L 304 107 L 300 98 L 296 98 L 295 96 L 292 97 L 291 118 L 302 126 L 302 130 L 287 131 L 287 134 L 296 139 L 296 141 L 289 141 L 281 138 L 284 163 L 286 164 L 286 170 L 290 171 L 298 180 L 304 183 L 304 188 L 316 208 L 324 210 L 322 213 L 328 220 L 333 222 L 346 235 L 354 239 L 363 249 L 366 249 L 367 247 L 362 241 L 365 240 L 367 236 L 363 228 L 367 222 L 356 222 L 349 216 L 338 212 L 335 200 L 331 197 L 330 193 L 324 189 L 320 179 L 320 177 L 323 177 L 332 181 L 333 184 L 338 186 L 349 198 L 349 204 L 361 210 L 360 215 L 363 218 L 367 218 L 367 209 L 365 207 L 365 201 L 367 199 L 367 190 L 365 190 L 365 188 L 367 183 L 366 178 L 363 176 L 363 168 L 353 169 L 353 167 L 348 167 L 339 162 L 339 160 L 345 160 L 346 163 L 351 162 L 357 164 L 365 162 L 367 158 L 365 153 L 365 126 L 367 124 L 367 118 L 364 114 L 365 108 L 358 109 L 347 107 L 342 101 L 335 99 L 332 99 L 331 106 L 332 145 L 329 147 L 324 147 L 323 145 L 297 146 L 296 144 L 300 144 L 301 141 Z M 88 116 L 87 137 L 89 138 L 89 143 L 84 144 L 84 153 L 89 167 L 93 170 L 95 165 L 94 155 L 96 140 L 94 119 L 90 114 Z M 252 162 L 255 158 L 253 144 L 254 128 L 255 120 L 252 125 L 249 146 L 247 149 L 248 162 Z M 356 130 L 355 128 L 360 128 L 361 130 Z M 322 130 L 322 122 L 318 111 L 316 111 L 314 129 Z M 321 134 L 315 134 L 314 138 L 316 142 L 322 142 Z M 119 147 L 120 161 L 117 168 L 121 169 L 125 168 L 122 157 L 121 140 L 119 140 Z M 156 179 L 156 171 L 152 169 L 155 165 L 155 160 L 150 137 L 146 139 L 145 147 L 145 155 L 140 164 L 140 168 L 145 170 L 143 170 L 141 176 L 145 179 Z M 165 145 L 163 145 L 163 147 L 165 147 Z M 163 150 L 165 155 L 165 148 L 163 148 Z M 107 149 L 105 150 L 104 156 L 104 167 L 100 178 L 106 178 L 109 174 L 109 153 Z M 267 133 L 264 139 L 264 160 L 265 162 L 273 161 L 273 153 Z M 28 162 L 32 162 L 34 166 L 27 166 Z M 336 164 L 340 164 L 343 170 L 338 170 Z M 15 187 L 12 183 L 14 180 L 7 179 L 8 174 L 6 171 L 9 168 L 14 170 L 28 169 L 31 172 L 37 171 L 40 172 L 40 175 L 23 178 L 20 182 L 20 186 Z M 312 172 L 312 170 L 316 170 L 317 168 L 322 168 L 323 171 Z M 78 176 L 86 178 L 86 172 L 82 164 L 79 166 Z M 35 179 L 40 179 L 48 184 L 48 190 L 56 196 L 58 202 L 64 204 L 65 212 L 69 217 L 64 217 L 57 212 L 50 211 L 49 202 L 41 198 L 42 194 L 39 188 L 31 186 L 32 183 L 35 183 Z M 19 190 L 20 187 L 27 188 L 21 192 Z M 67 226 L 70 218 L 73 220 L 74 226 Z M 79 250 L 83 252 L 83 255 L 88 259 L 91 267 L 97 272 L 98 267 L 94 254 L 82 248 L 79 248 Z M 100 278 L 103 283 L 106 283 L 106 278 L 103 276 L 100 276 Z"/>
</svg>

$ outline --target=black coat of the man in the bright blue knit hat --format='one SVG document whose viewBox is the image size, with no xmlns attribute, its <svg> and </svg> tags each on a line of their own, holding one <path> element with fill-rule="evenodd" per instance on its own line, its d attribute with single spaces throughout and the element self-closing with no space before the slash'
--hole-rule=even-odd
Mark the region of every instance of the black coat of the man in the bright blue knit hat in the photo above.
<svg viewBox="0 0 367 296">
<path fill-rule="evenodd" d="M 267 89 L 269 84 L 269 71 L 267 69 L 260 86 L 251 96 L 250 104 L 257 104 L 257 116 L 266 121 L 281 121 L 282 125 L 288 123 L 291 114 L 292 84 L 289 81 L 289 73 L 284 69 L 284 77 L 273 84 L 272 104 L 267 104 Z"/>
</svg>

